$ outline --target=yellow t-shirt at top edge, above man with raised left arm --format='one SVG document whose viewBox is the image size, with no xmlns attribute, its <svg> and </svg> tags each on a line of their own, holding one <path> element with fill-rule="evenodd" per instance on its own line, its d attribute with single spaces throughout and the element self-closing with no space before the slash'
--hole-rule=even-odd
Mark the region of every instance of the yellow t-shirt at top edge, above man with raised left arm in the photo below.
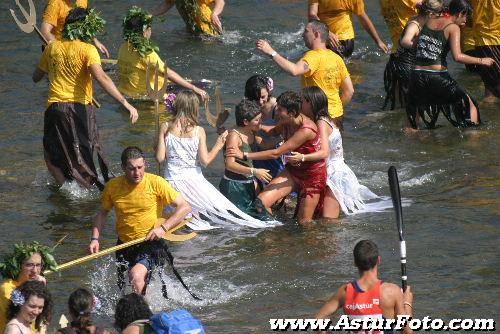
<svg viewBox="0 0 500 334">
<path fill-rule="evenodd" d="M 318 4 L 318 17 L 328 24 L 331 32 L 344 41 L 354 38 L 351 14 L 363 15 L 363 0 L 309 0 L 309 5 Z"/>
</svg>

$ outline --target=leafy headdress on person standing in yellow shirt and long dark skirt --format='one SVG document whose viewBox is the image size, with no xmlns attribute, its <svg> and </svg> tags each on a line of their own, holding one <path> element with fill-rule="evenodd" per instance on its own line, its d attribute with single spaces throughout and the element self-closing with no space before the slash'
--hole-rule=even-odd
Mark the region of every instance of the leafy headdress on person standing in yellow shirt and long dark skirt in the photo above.
<svg viewBox="0 0 500 334">
<path fill-rule="evenodd" d="M 81 12 L 82 16 L 86 14 L 85 18 L 73 20 L 71 16 L 75 13 L 74 11 Z M 92 43 L 95 35 L 104 30 L 105 24 L 106 21 L 99 16 L 95 8 L 87 10 L 82 7 L 76 7 L 68 14 L 62 35 L 63 38 L 72 41 L 79 39 L 82 42 Z"/>
</svg>

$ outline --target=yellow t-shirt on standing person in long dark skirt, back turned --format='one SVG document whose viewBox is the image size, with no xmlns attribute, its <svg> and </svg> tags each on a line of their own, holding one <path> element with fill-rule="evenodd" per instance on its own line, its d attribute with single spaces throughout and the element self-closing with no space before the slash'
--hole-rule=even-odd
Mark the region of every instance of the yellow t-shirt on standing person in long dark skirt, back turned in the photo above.
<svg viewBox="0 0 500 334">
<path fill-rule="evenodd" d="M 92 102 L 90 65 L 101 64 L 95 46 L 75 41 L 54 41 L 42 54 L 38 67 L 49 74 L 48 104 L 54 102 Z"/>
</svg>

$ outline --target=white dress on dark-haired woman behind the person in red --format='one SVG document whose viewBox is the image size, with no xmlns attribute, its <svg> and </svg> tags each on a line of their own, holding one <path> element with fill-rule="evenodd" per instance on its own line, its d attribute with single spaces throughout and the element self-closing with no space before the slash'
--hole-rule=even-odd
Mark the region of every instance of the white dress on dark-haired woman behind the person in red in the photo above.
<svg viewBox="0 0 500 334">
<path fill-rule="evenodd" d="M 379 198 L 367 187 L 359 184 L 354 172 L 344 162 L 344 149 L 342 147 L 342 135 L 339 129 L 329 121 L 322 118 L 332 128 L 328 137 L 330 152 L 327 160 L 327 185 L 340 204 L 346 215 L 359 211 L 380 211 L 387 207 L 388 203 L 380 203 L 373 210 L 366 210 L 365 201 Z"/>
</svg>

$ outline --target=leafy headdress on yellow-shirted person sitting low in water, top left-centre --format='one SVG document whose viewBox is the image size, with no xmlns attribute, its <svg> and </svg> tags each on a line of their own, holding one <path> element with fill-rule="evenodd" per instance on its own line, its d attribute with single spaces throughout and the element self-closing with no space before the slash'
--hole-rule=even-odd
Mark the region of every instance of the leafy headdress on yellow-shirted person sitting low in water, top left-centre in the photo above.
<svg viewBox="0 0 500 334">
<path fill-rule="evenodd" d="M 153 16 L 137 6 L 132 6 L 123 19 L 123 38 L 139 52 L 141 57 L 159 50 L 156 44 L 144 37 L 144 32 L 151 27 L 152 23 Z"/>
</svg>

